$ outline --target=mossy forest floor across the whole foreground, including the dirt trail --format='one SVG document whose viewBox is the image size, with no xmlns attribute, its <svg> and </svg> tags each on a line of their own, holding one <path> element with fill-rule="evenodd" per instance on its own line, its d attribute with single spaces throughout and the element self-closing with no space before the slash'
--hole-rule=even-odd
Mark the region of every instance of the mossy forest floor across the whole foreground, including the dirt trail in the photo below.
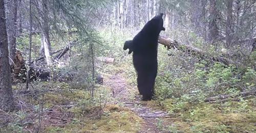
<svg viewBox="0 0 256 133">
<path fill-rule="evenodd" d="M 0 132 L 256 131 L 256 97 L 215 104 L 142 101 L 129 61 L 98 66 L 104 82 L 96 85 L 93 99 L 76 83 L 35 82 L 21 94 L 23 84 L 13 86 L 19 110 L 0 111 Z"/>
</svg>

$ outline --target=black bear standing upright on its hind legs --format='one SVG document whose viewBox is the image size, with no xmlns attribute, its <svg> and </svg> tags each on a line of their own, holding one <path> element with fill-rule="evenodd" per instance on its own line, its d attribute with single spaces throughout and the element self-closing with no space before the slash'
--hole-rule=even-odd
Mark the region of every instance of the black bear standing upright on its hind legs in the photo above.
<svg viewBox="0 0 256 133">
<path fill-rule="evenodd" d="M 157 76 L 158 37 L 163 28 L 163 13 L 148 21 L 143 29 L 133 38 L 125 41 L 123 49 L 133 52 L 133 64 L 137 72 L 137 87 L 143 100 L 154 96 L 154 85 Z"/>
</svg>

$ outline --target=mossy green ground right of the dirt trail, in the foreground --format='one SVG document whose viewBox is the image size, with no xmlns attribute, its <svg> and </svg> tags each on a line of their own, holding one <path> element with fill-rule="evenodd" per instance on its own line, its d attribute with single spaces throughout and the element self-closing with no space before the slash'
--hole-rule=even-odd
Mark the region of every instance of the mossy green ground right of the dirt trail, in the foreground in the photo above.
<svg viewBox="0 0 256 133">
<path fill-rule="evenodd" d="M 181 132 L 255 132 L 256 98 L 209 104 L 191 103 L 181 99 L 148 101 L 152 108 L 169 111 L 172 125 L 167 126 Z"/>
</svg>

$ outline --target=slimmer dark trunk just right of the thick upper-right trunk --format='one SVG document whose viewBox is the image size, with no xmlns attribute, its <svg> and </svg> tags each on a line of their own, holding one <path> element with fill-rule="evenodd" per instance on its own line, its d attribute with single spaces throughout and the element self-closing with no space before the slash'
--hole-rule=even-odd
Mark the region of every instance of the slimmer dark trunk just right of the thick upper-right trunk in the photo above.
<svg viewBox="0 0 256 133">
<path fill-rule="evenodd" d="M 232 43 L 232 5 L 233 0 L 227 0 L 227 23 L 226 23 L 226 46 L 230 47 Z"/>
</svg>

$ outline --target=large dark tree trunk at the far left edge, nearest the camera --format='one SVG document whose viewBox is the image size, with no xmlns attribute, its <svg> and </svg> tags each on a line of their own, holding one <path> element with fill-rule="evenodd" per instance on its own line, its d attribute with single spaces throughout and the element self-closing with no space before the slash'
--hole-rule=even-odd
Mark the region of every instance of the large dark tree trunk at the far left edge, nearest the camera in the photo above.
<svg viewBox="0 0 256 133">
<path fill-rule="evenodd" d="M 0 0 L 0 109 L 13 111 L 15 108 L 11 85 L 8 37 L 5 20 L 4 0 Z"/>
</svg>

